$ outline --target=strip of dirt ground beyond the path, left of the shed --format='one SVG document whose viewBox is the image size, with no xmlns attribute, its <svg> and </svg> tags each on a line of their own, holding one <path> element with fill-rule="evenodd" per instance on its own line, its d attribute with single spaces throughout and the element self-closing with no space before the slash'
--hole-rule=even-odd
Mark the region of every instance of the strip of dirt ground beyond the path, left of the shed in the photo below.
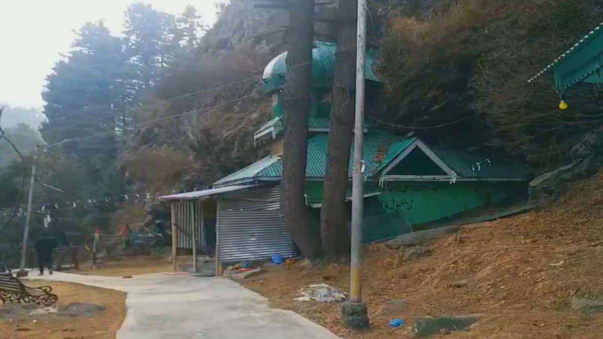
<svg viewBox="0 0 603 339">
<path fill-rule="evenodd" d="M 68 272 L 94 276 L 121 277 L 169 271 L 172 271 L 172 264 L 163 257 L 136 256 L 99 261 L 96 268 L 93 268 L 90 263 L 80 265 L 80 270 L 69 270 Z"/>
</svg>

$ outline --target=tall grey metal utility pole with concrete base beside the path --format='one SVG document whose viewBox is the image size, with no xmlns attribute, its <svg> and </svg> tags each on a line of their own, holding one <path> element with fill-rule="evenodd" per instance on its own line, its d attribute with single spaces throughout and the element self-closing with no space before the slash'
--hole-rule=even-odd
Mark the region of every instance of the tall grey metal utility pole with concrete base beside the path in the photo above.
<svg viewBox="0 0 603 339">
<path fill-rule="evenodd" d="M 352 253 L 350 260 L 350 301 L 341 307 L 344 325 L 368 328 L 367 305 L 362 303 L 362 210 L 364 208 L 364 85 L 367 50 L 367 0 L 358 0 L 358 39 L 356 41 L 356 111 L 354 124 L 354 172 L 352 176 Z"/>
</svg>

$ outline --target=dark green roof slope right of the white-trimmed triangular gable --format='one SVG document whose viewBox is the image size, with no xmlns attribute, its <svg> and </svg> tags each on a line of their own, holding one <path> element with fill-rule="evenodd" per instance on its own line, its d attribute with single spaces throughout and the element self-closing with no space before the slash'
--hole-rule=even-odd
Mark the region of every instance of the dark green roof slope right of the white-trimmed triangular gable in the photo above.
<svg viewBox="0 0 603 339">
<path fill-rule="evenodd" d="M 429 149 L 463 179 L 523 179 L 529 173 L 525 165 L 502 157 L 479 156 L 435 146 L 429 146 Z"/>
</svg>

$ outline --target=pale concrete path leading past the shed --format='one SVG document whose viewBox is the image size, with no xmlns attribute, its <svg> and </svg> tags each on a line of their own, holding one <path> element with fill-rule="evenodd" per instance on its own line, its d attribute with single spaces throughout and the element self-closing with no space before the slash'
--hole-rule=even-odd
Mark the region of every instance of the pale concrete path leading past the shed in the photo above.
<svg viewBox="0 0 603 339">
<path fill-rule="evenodd" d="M 118 339 L 338 338 L 295 312 L 270 308 L 266 298 L 224 278 L 145 274 L 124 279 L 55 272 L 42 279 L 126 292 L 127 314 Z"/>
</svg>

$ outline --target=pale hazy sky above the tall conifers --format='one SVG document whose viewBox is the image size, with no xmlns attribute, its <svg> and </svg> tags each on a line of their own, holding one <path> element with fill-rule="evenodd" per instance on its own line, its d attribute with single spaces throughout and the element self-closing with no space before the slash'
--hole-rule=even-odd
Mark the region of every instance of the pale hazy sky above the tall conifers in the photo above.
<svg viewBox="0 0 603 339">
<path fill-rule="evenodd" d="M 46 75 L 69 50 L 73 31 L 103 19 L 119 33 L 124 10 L 134 2 L 171 14 L 182 13 L 191 4 L 205 24 L 213 24 L 215 4 L 225 0 L 0 0 L 0 103 L 42 107 Z"/>
</svg>

